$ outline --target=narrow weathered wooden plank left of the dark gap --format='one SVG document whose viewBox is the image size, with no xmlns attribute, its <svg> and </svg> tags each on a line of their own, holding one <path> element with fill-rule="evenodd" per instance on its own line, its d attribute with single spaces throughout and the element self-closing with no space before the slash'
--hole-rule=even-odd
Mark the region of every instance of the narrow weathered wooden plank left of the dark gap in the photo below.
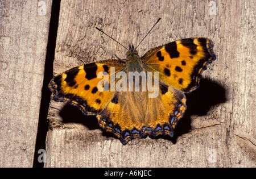
<svg viewBox="0 0 256 179">
<path fill-rule="evenodd" d="M 52 1 L 0 2 L 0 167 L 32 167 Z"/>
</svg>

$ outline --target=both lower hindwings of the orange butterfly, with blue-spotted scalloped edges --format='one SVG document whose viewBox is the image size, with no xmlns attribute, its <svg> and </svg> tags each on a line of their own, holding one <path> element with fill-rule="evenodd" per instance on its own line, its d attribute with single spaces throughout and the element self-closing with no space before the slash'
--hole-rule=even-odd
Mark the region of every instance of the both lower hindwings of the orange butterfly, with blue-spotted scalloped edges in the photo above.
<svg viewBox="0 0 256 179">
<path fill-rule="evenodd" d="M 148 97 L 148 91 L 115 91 L 114 97 L 97 115 L 106 131 L 118 136 L 123 144 L 147 134 L 173 136 L 177 120 L 187 106 L 183 92 L 160 85 L 159 95 Z"/>
</svg>

